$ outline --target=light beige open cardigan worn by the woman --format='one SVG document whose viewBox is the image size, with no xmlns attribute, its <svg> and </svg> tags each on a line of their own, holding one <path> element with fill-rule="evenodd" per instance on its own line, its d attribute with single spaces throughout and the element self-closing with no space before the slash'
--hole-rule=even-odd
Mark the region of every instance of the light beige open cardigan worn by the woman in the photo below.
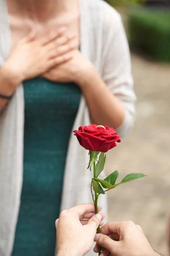
<svg viewBox="0 0 170 256">
<path fill-rule="evenodd" d="M 125 120 L 117 129 L 123 137 L 133 126 L 136 97 L 133 92 L 130 53 L 120 15 L 102 0 L 79 0 L 79 8 L 82 54 L 91 60 L 109 90 L 125 106 Z M 0 66 L 10 49 L 6 0 L 0 0 Z M 73 130 L 89 123 L 88 108 L 82 96 Z M 10 256 L 14 243 L 23 180 L 23 125 L 24 97 L 21 84 L 8 108 L 0 116 L 0 256 Z M 87 170 L 87 163 L 88 152 L 80 147 L 72 133 L 65 166 L 61 209 L 92 201 L 91 172 Z M 106 211 L 106 196 L 101 196 L 100 204 Z"/>
</svg>

